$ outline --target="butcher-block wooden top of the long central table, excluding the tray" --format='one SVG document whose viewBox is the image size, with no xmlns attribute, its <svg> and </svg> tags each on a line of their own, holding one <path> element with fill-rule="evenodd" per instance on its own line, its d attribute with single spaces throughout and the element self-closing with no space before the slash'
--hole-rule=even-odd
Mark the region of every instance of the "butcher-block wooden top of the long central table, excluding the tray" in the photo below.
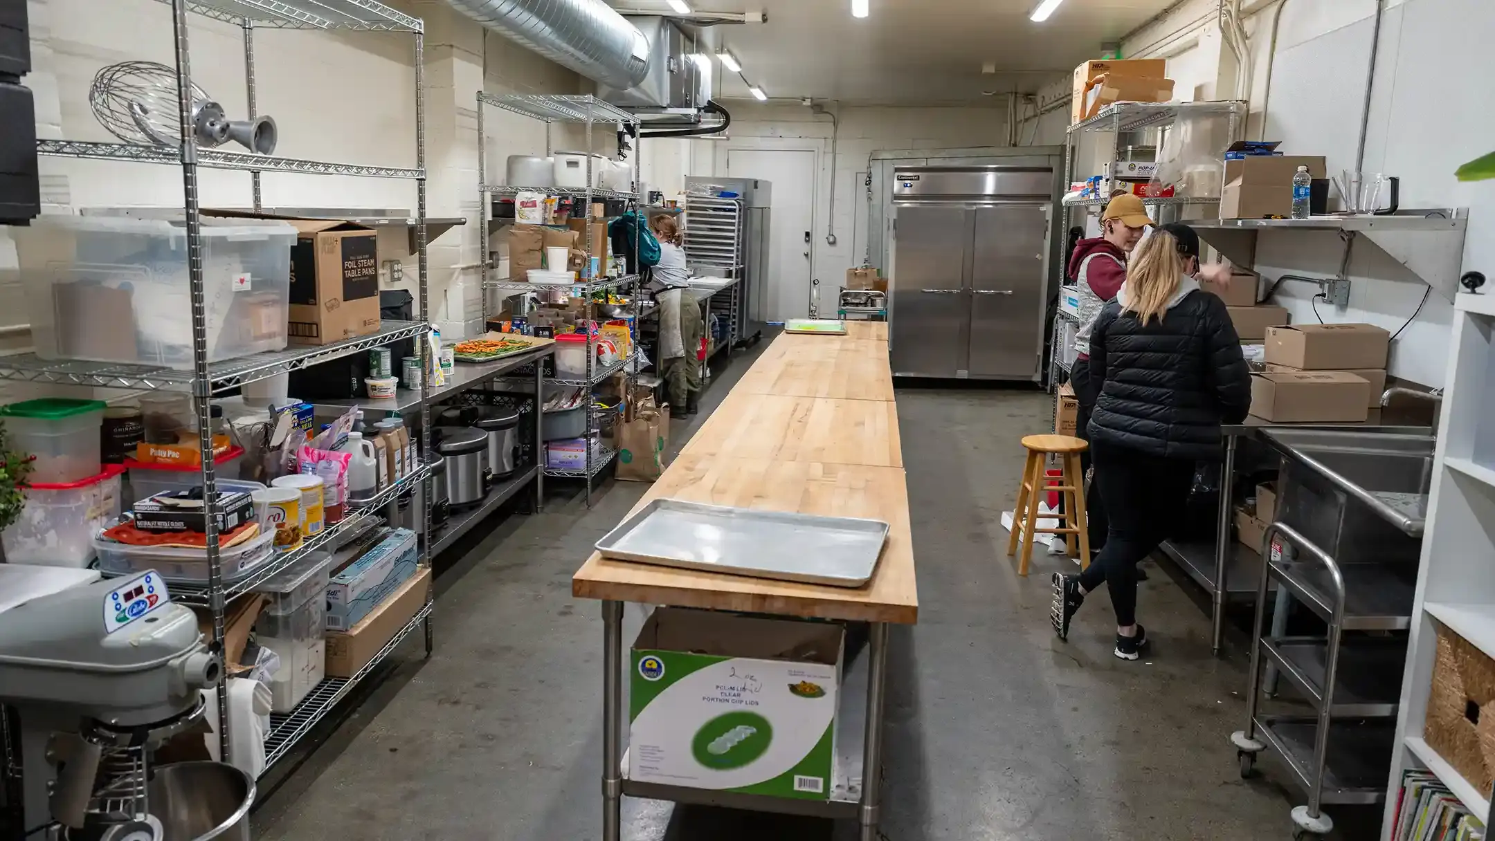
<svg viewBox="0 0 1495 841">
<path fill-rule="evenodd" d="M 592 553 L 571 580 L 573 595 L 780 615 L 916 621 L 918 587 L 887 324 L 852 321 L 848 332 L 774 339 L 634 511 L 670 497 L 882 520 L 890 527 L 888 542 L 867 586 L 771 581 L 607 560 Z M 879 332 L 882 338 L 876 338 Z"/>
</svg>

